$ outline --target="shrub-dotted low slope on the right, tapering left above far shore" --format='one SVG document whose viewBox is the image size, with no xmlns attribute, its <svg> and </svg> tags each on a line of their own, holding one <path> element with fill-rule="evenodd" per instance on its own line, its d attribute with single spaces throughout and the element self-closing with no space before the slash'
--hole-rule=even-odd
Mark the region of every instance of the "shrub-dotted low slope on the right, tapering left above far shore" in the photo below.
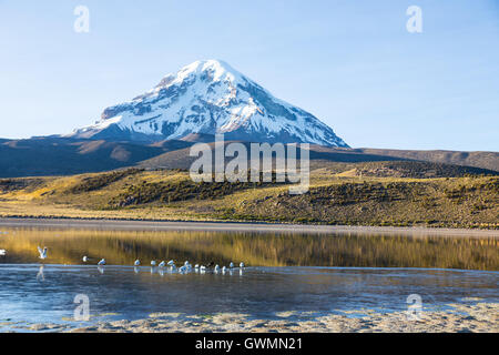
<svg viewBox="0 0 499 355">
<path fill-rule="evenodd" d="M 274 195 L 235 213 L 295 223 L 497 229 L 498 187 L 497 178 L 343 182 L 313 186 L 304 195 Z"/>
</svg>

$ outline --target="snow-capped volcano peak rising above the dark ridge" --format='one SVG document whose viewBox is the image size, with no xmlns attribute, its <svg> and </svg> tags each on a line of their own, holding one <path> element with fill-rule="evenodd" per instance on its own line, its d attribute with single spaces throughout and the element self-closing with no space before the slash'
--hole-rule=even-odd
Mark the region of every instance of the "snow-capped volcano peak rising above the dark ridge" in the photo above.
<svg viewBox="0 0 499 355">
<path fill-rule="evenodd" d="M 225 140 L 347 146 L 310 113 L 274 98 L 217 60 L 196 61 L 166 75 L 132 101 L 106 108 L 101 120 L 72 136 L 156 141 L 192 133 L 224 133 Z"/>
</svg>

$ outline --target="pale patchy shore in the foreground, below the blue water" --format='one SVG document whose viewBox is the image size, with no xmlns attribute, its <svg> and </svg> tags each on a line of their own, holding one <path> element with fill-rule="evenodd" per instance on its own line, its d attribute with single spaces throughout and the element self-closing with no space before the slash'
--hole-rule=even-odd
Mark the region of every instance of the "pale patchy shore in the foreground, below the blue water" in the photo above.
<svg viewBox="0 0 499 355">
<path fill-rule="evenodd" d="M 447 310 L 414 313 L 353 310 L 317 315 L 315 312 L 279 312 L 275 318 L 217 313 L 184 315 L 152 313 L 140 320 L 98 321 L 80 324 L 0 323 L 8 332 L 34 333 L 499 333 L 499 304 L 476 300 L 448 304 Z M 411 316 L 413 315 L 413 316 Z"/>
</svg>

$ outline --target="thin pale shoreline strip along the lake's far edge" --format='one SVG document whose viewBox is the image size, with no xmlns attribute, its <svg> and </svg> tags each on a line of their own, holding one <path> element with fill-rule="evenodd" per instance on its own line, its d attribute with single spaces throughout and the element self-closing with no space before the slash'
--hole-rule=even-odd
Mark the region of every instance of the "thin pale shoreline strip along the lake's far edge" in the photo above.
<svg viewBox="0 0 499 355">
<path fill-rule="evenodd" d="M 197 232 L 257 232 L 257 233 L 314 233 L 455 237 L 499 237 L 499 230 L 431 229 L 401 226 L 285 224 L 265 222 L 204 222 L 204 221 L 144 221 L 71 217 L 0 217 L 0 227 L 94 229 L 118 231 L 197 231 Z"/>
</svg>

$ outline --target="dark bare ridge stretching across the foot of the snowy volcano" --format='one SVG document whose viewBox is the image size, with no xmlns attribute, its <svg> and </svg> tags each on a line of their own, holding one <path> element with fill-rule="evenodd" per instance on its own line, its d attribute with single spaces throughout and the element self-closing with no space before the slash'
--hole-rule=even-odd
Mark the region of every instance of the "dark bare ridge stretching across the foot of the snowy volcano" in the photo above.
<svg viewBox="0 0 499 355">
<path fill-rule="evenodd" d="M 210 143 L 210 136 L 191 135 L 185 140 L 165 140 L 149 144 L 54 136 L 0 140 L 0 178 L 69 175 L 129 166 L 186 169 L 192 160 L 189 156 L 189 148 L 197 141 Z M 442 153 L 310 144 L 310 164 L 314 166 L 381 161 L 427 161 L 499 172 L 499 152 Z"/>
</svg>

